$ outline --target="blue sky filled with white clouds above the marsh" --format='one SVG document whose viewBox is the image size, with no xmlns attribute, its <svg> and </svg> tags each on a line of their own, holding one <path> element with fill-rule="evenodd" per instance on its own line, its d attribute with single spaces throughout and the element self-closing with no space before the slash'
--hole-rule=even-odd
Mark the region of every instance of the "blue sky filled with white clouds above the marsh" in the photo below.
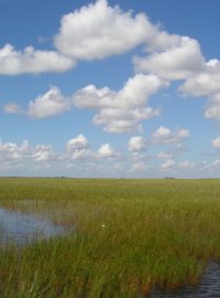
<svg viewBox="0 0 220 298">
<path fill-rule="evenodd" d="M 219 178 L 219 0 L 0 0 L 0 175 Z"/>
</svg>

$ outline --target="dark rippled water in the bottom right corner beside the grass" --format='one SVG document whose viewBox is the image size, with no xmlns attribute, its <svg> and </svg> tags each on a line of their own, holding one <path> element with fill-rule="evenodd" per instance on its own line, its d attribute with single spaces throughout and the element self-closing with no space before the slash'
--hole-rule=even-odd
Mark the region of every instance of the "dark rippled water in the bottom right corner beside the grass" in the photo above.
<svg viewBox="0 0 220 298">
<path fill-rule="evenodd" d="M 200 283 L 176 291 L 154 290 L 150 298 L 220 298 L 220 265 L 210 263 Z"/>
</svg>

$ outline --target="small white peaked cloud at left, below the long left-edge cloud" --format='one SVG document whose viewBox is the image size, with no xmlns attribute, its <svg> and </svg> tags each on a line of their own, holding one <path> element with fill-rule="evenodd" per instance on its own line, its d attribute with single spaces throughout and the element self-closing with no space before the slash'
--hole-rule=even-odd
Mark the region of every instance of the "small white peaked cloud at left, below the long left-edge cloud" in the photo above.
<svg viewBox="0 0 220 298">
<path fill-rule="evenodd" d="M 57 87 L 51 89 L 29 104 L 29 115 L 33 118 L 46 118 L 69 110 L 70 103 Z"/>
</svg>

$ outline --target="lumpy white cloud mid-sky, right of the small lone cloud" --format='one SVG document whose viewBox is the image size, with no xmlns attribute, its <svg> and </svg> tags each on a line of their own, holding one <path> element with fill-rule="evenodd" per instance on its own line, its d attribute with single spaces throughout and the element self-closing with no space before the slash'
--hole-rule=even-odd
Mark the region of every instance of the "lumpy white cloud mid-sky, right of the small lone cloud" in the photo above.
<svg viewBox="0 0 220 298">
<path fill-rule="evenodd" d="M 89 85 L 72 99 L 79 108 L 98 109 L 94 123 L 103 125 L 106 131 L 127 132 L 141 129 L 141 120 L 158 116 L 158 110 L 146 107 L 146 102 L 162 86 L 165 84 L 157 76 L 138 74 L 119 92 Z"/>
</svg>

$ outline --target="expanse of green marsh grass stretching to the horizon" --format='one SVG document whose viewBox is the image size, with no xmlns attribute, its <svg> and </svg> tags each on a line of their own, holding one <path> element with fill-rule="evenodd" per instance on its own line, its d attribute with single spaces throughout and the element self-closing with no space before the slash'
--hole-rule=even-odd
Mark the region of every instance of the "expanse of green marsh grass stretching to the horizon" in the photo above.
<svg viewBox="0 0 220 298">
<path fill-rule="evenodd" d="M 0 248 L 0 297 L 145 297 L 220 258 L 219 180 L 0 179 L 0 205 L 75 226 Z"/>
</svg>

